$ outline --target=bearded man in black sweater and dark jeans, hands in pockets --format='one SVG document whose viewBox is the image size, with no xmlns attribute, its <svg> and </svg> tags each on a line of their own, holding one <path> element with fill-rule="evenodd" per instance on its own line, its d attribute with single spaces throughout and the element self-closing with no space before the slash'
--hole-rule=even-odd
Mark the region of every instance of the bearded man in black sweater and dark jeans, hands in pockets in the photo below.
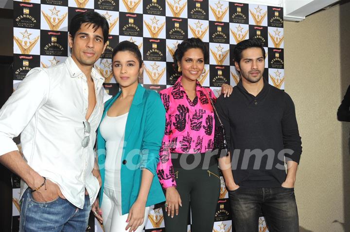
<svg viewBox="0 0 350 232">
<path fill-rule="evenodd" d="M 230 152 L 219 163 L 229 193 L 232 228 L 258 231 L 262 211 L 271 232 L 298 232 L 294 183 L 301 138 L 294 103 L 262 78 L 265 50 L 260 40 L 237 44 L 234 60 L 241 79 L 229 97 L 219 97 L 215 104 Z"/>
</svg>

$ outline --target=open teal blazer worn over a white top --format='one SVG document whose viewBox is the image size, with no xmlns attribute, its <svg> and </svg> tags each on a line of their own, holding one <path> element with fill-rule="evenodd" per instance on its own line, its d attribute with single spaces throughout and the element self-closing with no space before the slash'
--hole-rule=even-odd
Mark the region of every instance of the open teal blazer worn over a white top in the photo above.
<svg viewBox="0 0 350 232">
<path fill-rule="evenodd" d="M 105 103 L 102 119 L 120 94 L 121 92 Z M 124 134 L 121 162 L 123 215 L 129 213 L 131 206 L 139 195 L 143 169 L 150 170 L 154 175 L 146 206 L 165 201 L 156 173 L 164 129 L 165 109 L 159 94 L 153 90 L 146 90 L 139 84 L 131 103 Z M 103 201 L 105 183 L 105 155 L 105 139 L 101 136 L 100 129 L 98 129 L 97 156 L 102 178 L 100 206 Z"/>
</svg>

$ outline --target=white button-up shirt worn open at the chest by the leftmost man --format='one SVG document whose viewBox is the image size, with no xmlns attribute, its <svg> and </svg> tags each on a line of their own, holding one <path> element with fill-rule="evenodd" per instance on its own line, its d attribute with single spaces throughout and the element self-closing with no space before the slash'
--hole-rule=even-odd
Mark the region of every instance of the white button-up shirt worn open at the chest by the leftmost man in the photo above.
<svg viewBox="0 0 350 232">
<path fill-rule="evenodd" d="M 21 146 L 28 165 L 56 183 L 65 198 L 84 207 L 85 188 L 90 204 L 99 191 L 92 175 L 93 146 L 104 105 L 104 78 L 92 69 L 96 107 L 88 122 L 88 147 L 82 147 L 88 110 L 88 83 L 71 57 L 49 68 L 34 68 L 0 109 L 0 155 L 18 150 L 12 140 L 21 134 Z M 28 186 L 21 182 L 21 193 Z"/>
</svg>

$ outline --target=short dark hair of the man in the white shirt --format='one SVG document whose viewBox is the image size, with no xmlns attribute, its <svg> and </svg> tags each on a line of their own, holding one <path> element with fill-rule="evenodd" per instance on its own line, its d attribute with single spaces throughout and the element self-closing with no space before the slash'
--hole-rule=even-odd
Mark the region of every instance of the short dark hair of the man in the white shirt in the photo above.
<svg viewBox="0 0 350 232">
<path fill-rule="evenodd" d="M 70 20 L 70 35 L 73 37 L 73 39 L 75 33 L 80 29 L 80 26 L 83 23 L 92 24 L 92 28 L 95 29 L 95 31 L 101 28 L 104 36 L 104 43 L 107 42 L 109 33 L 109 25 L 107 19 L 94 11 L 79 13 Z"/>
</svg>

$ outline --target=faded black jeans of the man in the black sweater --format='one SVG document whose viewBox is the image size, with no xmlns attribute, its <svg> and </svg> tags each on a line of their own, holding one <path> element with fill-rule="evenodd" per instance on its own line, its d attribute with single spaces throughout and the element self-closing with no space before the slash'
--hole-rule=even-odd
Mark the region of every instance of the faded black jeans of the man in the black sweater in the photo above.
<svg viewBox="0 0 350 232">
<path fill-rule="evenodd" d="M 262 210 L 269 232 L 298 232 L 294 188 L 245 188 L 228 191 L 232 232 L 259 231 Z"/>
</svg>

